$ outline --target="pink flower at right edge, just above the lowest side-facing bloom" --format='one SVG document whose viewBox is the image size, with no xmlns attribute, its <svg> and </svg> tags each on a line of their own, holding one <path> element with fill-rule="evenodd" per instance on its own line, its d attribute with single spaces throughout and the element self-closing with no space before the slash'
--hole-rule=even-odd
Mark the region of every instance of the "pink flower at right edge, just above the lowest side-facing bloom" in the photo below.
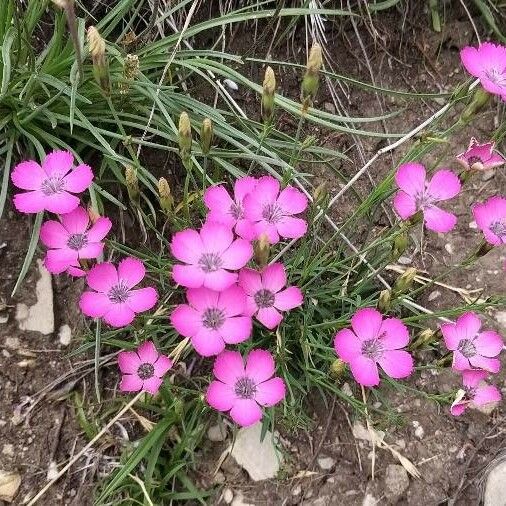
<svg viewBox="0 0 506 506">
<path fill-rule="evenodd" d="M 485 369 L 498 372 L 501 367 L 497 357 L 501 353 L 503 342 L 497 332 L 480 332 L 481 321 L 475 313 L 461 315 L 456 323 L 444 323 L 441 332 L 446 347 L 453 351 L 452 367 L 457 371 L 466 369 Z"/>
</svg>

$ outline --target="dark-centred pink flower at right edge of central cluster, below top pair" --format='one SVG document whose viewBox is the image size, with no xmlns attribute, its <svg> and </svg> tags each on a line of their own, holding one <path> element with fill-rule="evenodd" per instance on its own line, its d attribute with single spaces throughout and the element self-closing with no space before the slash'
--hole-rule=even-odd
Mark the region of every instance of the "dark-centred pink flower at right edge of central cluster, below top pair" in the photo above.
<svg viewBox="0 0 506 506">
<path fill-rule="evenodd" d="M 302 304 L 302 292 L 297 286 L 286 286 L 283 264 L 268 265 L 261 272 L 244 268 L 239 272 L 239 286 L 247 295 L 246 312 L 256 315 L 268 329 L 277 327 L 283 316 L 279 311 L 289 311 Z"/>
</svg>

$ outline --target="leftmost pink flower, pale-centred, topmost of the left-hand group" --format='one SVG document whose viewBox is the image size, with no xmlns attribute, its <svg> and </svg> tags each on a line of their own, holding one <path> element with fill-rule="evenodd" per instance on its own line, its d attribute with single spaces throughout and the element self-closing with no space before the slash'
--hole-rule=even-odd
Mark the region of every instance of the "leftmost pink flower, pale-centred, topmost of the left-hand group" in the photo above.
<svg viewBox="0 0 506 506">
<path fill-rule="evenodd" d="M 42 167 L 33 160 L 21 162 L 11 174 L 12 182 L 22 190 L 14 195 L 14 205 L 22 213 L 50 211 L 57 214 L 70 213 L 79 205 L 81 193 L 91 185 L 93 172 L 88 165 L 75 169 L 74 156 L 68 151 L 49 153 Z"/>
</svg>

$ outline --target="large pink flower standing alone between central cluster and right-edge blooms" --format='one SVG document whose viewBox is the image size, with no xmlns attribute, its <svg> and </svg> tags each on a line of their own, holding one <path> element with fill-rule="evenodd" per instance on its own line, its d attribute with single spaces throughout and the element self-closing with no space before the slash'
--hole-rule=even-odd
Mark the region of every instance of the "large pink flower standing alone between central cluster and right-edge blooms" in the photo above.
<svg viewBox="0 0 506 506">
<path fill-rule="evenodd" d="M 366 387 L 379 384 L 379 364 L 392 378 L 406 378 L 413 371 L 413 357 L 403 348 L 409 342 L 406 326 L 398 318 L 383 320 L 376 309 L 359 309 L 350 329 L 334 338 L 339 358 L 350 364 L 355 380 Z"/>
</svg>

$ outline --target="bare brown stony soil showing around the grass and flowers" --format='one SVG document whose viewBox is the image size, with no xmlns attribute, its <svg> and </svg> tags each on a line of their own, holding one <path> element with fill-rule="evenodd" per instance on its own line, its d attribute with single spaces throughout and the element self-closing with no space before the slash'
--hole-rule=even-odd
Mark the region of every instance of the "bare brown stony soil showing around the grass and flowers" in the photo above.
<svg viewBox="0 0 506 506">
<path fill-rule="evenodd" d="M 461 13 L 455 15 L 445 25 L 445 33 L 434 34 L 424 13 L 410 16 L 405 31 L 397 30 L 398 14 L 386 14 L 375 18 L 378 33 L 376 40 L 364 29 L 361 38 L 374 69 L 377 84 L 392 89 L 412 90 L 445 90 L 463 80 L 456 48 L 473 40 L 473 33 L 467 18 Z M 251 46 L 248 34 L 235 32 L 230 52 L 244 54 Z M 293 47 L 305 47 L 304 31 L 297 32 Z M 258 54 L 263 56 L 267 46 L 261 46 Z M 364 81 L 370 81 L 369 71 L 361 54 L 360 44 L 351 26 L 345 26 L 343 33 L 329 37 L 328 49 L 337 62 L 339 73 L 353 75 Z M 295 53 L 295 52 L 294 52 Z M 292 53 L 289 48 L 273 50 L 272 58 L 303 60 L 304 51 Z M 256 68 L 260 80 L 261 70 Z M 280 91 L 285 95 L 298 95 L 298 78 L 292 71 L 280 71 L 278 79 Z M 339 90 L 337 90 L 339 92 Z M 237 93 L 238 100 L 248 108 L 257 107 L 250 96 Z M 248 105 L 249 104 L 249 105 Z M 331 97 L 328 89 L 322 84 L 317 106 L 329 108 Z M 407 108 L 398 118 L 388 120 L 390 131 L 405 132 L 409 127 L 419 124 L 424 118 L 433 114 L 440 107 L 435 102 L 411 102 L 404 104 L 387 98 L 382 108 L 386 111 Z M 376 97 L 370 92 L 358 88 L 350 89 L 350 99 L 346 104 L 352 116 L 373 116 L 381 114 Z M 257 113 L 253 113 L 256 115 Z M 470 136 L 487 139 L 497 121 L 497 110 L 490 108 L 480 116 L 479 125 L 470 125 L 458 135 L 449 139 L 448 153 L 463 151 Z M 378 126 L 380 128 L 380 126 Z M 311 130 L 318 134 L 318 130 Z M 342 136 L 336 139 L 326 137 L 329 147 L 348 148 L 350 163 L 339 167 L 351 177 L 362 165 L 353 141 Z M 381 145 L 363 139 L 365 160 L 370 158 Z M 146 155 L 151 156 L 151 155 Z M 153 154 L 156 160 L 156 154 Z M 394 160 L 400 152 L 395 153 Z M 425 160 L 427 165 L 435 160 Z M 457 169 L 457 165 L 448 155 L 445 161 Z M 368 191 L 375 182 L 391 169 L 393 159 L 385 156 L 370 170 L 370 178 L 361 180 L 358 188 Z M 162 163 L 162 162 L 160 162 Z M 472 217 L 470 203 L 476 199 L 506 192 L 506 173 L 497 174 L 488 181 L 476 178 L 468 189 L 452 202 L 452 210 L 459 217 L 458 227 L 450 234 L 426 236 L 423 256 L 416 256 L 413 265 L 431 273 L 438 272 L 445 265 L 450 265 L 462 258 L 464 252 L 479 240 L 480 234 L 470 227 Z M 331 181 L 329 192 L 339 189 L 339 181 L 329 174 L 318 173 L 315 177 Z M 348 201 L 349 202 L 349 201 Z M 351 204 L 349 204 L 351 205 Z M 339 220 L 346 212 L 346 207 L 338 206 L 335 218 Z M 34 290 L 38 274 L 32 266 L 22 289 L 13 298 L 10 297 L 17 274 L 23 262 L 24 252 L 29 240 L 30 220 L 21 217 L 11 209 L 0 221 L 0 258 L 2 274 L 0 276 L 0 301 L 7 307 L 0 313 L 7 316 L 6 323 L 0 324 L 0 469 L 15 470 L 22 477 L 20 491 L 14 504 L 22 504 L 24 499 L 47 483 L 47 473 L 52 461 L 58 468 L 77 452 L 87 441 L 81 425 L 76 419 L 76 401 L 74 392 L 81 396 L 93 395 L 87 392 L 93 389 L 93 379 L 80 374 L 72 375 L 83 360 L 82 356 L 69 357 L 72 349 L 79 345 L 79 326 L 81 316 L 76 310 L 78 294 L 82 290 L 82 281 L 72 283 L 64 277 L 53 279 L 55 301 L 55 333 L 43 336 L 38 332 L 20 331 L 15 319 L 16 304 L 31 305 L 35 302 Z M 5 246 L 3 245 L 5 244 Z M 410 252 L 404 256 L 409 257 Z M 40 255 L 38 255 L 40 258 Z M 477 266 L 460 270 L 446 282 L 459 288 L 482 288 L 480 296 L 504 293 L 506 281 L 500 270 L 504 264 L 505 252 L 498 249 L 482 258 Z M 428 308 L 451 307 L 463 300 L 455 291 L 438 287 L 440 296 L 433 299 L 429 295 L 436 288 L 424 293 L 420 303 Z M 494 314 L 489 315 L 488 326 L 498 328 Z M 59 343 L 58 329 L 62 324 L 72 328 L 70 347 Z M 429 322 L 428 322 L 429 323 Z M 502 329 L 503 332 L 506 329 Z M 17 341 L 16 341 L 17 339 Z M 13 344 L 14 343 L 14 344 Z M 17 343 L 17 344 L 16 344 Z M 89 357 L 88 357 L 89 358 Z M 24 361 L 24 362 L 23 362 Z M 28 365 L 26 363 L 28 362 Z M 21 365 L 20 365 L 21 363 Z M 83 371 L 91 372 L 93 366 Z M 46 386 L 60 378 L 60 382 L 45 395 L 39 394 Z M 77 383 L 73 381 L 79 378 Z M 497 376 L 497 385 L 506 393 L 504 373 Z M 406 383 L 432 393 L 449 392 L 458 385 L 458 377 L 450 371 L 433 375 L 426 371 L 417 373 L 415 378 Z M 361 392 L 352 381 L 349 387 L 357 398 Z M 402 456 L 409 459 L 421 474 L 420 479 L 411 478 L 403 494 L 396 498 L 398 504 L 433 506 L 437 504 L 478 504 L 480 497 L 480 478 L 486 466 L 506 448 L 504 435 L 504 406 L 501 405 L 492 415 L 472 412 L 460 418 L 452 417 L 448 407 L 439 407 L 434 401 L 414 397 L 410 393 L 387 390 L 381 401 L 394 407 L 399 413 L 395 423 L 385 424 L 385 441 L 393 446 Z M 28 412 L 34 400 L 38 401 Z M 28 413 L 28 414 L 27 414 Z M 331 413 L 331 416 L 329 416 Z M 246 475 L 230 463 L 222 466 L 219 476 L 224 487 L 230 488 L 237 497 L 239 492 L 244 503 L 254 505 L 289 505 L 302 504 L 326 506 L 334 504 L 388 504 L 385 488 L 385 471 L 389 464 L 398 460 L 389 450 L 376 449 L 373 479 L 373 454 L 371 445 L 354 437 L 352 426 L 356 420 L 348 407 L 340 402 L 328 401 L 314 397 L 308 406 L 311 422 L 305 430 L 281 431 L 281 441 L 285 463 L 280 479 L 261 483 L 248 481 Z M 422 430 L 420 429 L 422 428 Z M 205 459 L 202 468 L 197 470 L 202 485 L 212 485 L 214 471 L 221 452 L 228 442 L 206 442 L 202 454 Z M 319 457 L 330 457 L 335 464 L 329 470 L 322 470 L 318 465 Z M 92 488 L 99 478 L 99 457 L 90 452 L 74 467 L 74 472 L 54 485 L 40 504 L 45 505 L 86 505 L 92 502 Z M 452 503 L 451 501 L 455 502 Z M 395 502 L 394 501 L 394 502 Z M 217 494 L 216 504 L 224 504 L 224 497 Z M 240 503 L 237 503 L 239 505 Z"/>
</svg>

